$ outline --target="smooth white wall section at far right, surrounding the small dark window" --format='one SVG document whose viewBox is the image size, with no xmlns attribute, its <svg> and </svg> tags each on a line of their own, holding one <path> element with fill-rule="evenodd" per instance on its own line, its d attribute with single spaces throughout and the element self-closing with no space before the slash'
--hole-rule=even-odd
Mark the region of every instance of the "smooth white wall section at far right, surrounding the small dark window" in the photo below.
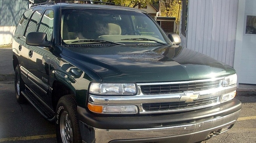
<svg viewBox="0 0 256 143">
<path fill-rule="evenodd" d="M 256 34 L 245 34 L 247 15 L 256 16 L 256 0 L 239 0 L 234 68 L 239 83 L 256 84 Z"/>
</svg>

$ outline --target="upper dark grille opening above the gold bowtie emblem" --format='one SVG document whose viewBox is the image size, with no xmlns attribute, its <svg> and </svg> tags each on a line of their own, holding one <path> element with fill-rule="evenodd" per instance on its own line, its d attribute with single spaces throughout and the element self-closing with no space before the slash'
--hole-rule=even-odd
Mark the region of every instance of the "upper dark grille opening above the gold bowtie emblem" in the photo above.
<svg viewBox="0 0 256 143">
<path fill-rule="evenodd" d="M 140 86 L 143 94 L 151 93 L 170 93 L 170 92 L 184 92 L 195 91 L 197 89 L 206 90 L 210 88 L 217 88 L 220 86 L 221 80 L 182 83 L 182 84 L 167 84 L 167 85 L 142 85 Z"/>
</svg>

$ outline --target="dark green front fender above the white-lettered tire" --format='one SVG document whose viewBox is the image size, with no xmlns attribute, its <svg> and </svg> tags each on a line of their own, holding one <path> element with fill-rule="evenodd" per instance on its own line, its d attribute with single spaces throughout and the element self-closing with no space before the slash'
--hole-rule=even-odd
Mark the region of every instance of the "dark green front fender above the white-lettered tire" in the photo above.
<svg viewBox="0 0 256 143">
<path fill-rule="evenodd" d="M 65 62 L 66 60 L 71 61 Z M 86 107 L 87 89 L 91 81 L 100 82 L 100 77 L 85 65 L 72 59 L 55 58 L 50 62 L 50 86 L 58 81 L 75 94 L 77 105 Z M 78 68 L 79 67 L 79 68 Z"/>
</svg>

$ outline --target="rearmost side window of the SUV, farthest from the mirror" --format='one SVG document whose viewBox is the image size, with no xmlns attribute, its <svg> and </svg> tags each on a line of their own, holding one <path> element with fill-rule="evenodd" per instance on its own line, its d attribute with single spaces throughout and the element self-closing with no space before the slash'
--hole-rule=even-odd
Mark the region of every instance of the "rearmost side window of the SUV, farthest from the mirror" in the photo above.
<svg viewBox="0 0 256 143">
<path fill-rule="evenodd" d="M 31 12 L 32 12 L 32 9 L 29 9 L 23 13 L 23 15 L 20 18 L 20 21 L 17 25 L 15 35 L 21 35 L 21 32 L 25 29 L 25 26 L 27 25 L 28 18 L 29 18 L 29 15 L 31 14 Z"/>
</svg>

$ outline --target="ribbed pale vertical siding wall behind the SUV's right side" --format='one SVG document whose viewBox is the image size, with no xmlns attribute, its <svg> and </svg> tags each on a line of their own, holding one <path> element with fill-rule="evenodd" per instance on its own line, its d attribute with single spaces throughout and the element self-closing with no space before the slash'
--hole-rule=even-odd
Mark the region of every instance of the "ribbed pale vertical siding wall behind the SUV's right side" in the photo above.
<svg viewBox="0 0 256 143">
<path fill-rule="evenodd" d="M 188 0 L 187 48 L 234 63 L 238 0 Z"/>
</svg>

